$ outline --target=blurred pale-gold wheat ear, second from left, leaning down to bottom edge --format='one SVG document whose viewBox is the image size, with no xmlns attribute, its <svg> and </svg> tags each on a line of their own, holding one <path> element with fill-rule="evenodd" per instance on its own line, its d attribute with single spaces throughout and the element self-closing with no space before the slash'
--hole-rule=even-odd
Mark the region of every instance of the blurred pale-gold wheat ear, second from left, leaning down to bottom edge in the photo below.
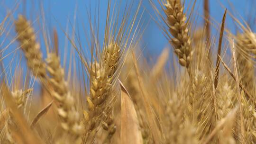
<svg viewBox="0 0 256 144">
<path fill-rule="evenodd" d="M 50 75 L 48 81 L 52 86 L 50 93 L 58 103 L 57 113 L 61 120 L 60 125 L 64 129 L 64 133 L 57 144 L 62 144 L 62 140 L 80 144 L 84 128 L 75 108 L 75 99 L 68 89 L 67 81 L 65 81 L 64 69 L 61 67 L 60 59 L 55 53 L 50 53 L 47 56 L 46 63 Z"/>
</svg>

